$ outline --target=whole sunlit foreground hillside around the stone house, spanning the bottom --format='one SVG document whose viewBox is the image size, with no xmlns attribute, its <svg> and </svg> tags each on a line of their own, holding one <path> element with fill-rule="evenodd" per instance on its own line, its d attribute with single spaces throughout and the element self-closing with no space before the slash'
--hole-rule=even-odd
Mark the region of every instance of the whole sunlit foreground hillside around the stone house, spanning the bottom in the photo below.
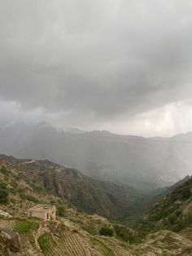
<svg viewBox="0 0 192 256">
<path fill-rule="evenodd" d="M 185 234 L 159 231 L 146 238 L 140 231 L 120 223 L 110 223 L 97 214 L 76 211 L 68 201 L 55 196 L 52 188 L 42 186 L 44 179 L 38 173 L 41 168 L 62 172 L 62 166 L 49 161 L 20 161 L 14 157 L 0 159 L 0 230 L 4 227 L 21 236 L 22 248 L 18 253 L 4 250 L 0 239 L 0 254 L 10 256 L 135 256 L 135 255 L 182 255 L 192 254 L 192 242 Z M 67 170 L 70 173 L 70 170 Z M 73 173 L 79 175 L 79 172 Z M 2 186 L 3 183 L 3 186 Z M 8 192 L 8 196 L 7 193 Z M 53 194 L 54 193 L 54 194 Z M 57 221 L 44 222 L 38 218 L 26 218 L 31 206 L 54 204 Z M 61 217 L 62 215 L 62 217 Z M 101 231 L 104 232 L 101 232 Z M 1 232 L 0 232 L 1 233 Z M 105 236 L 103 236 L 105 234 Z M 1 236 L 1 234 L 0 234 Z M 192 237 L 191 237 L 192 238 Z"/>
</svg>

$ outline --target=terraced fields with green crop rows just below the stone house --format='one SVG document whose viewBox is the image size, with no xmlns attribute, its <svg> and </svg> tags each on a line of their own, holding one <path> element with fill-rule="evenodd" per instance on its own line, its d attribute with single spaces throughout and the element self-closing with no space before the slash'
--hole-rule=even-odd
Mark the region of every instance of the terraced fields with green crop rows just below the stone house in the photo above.
<svg viewBox="0 0 192 256">
<path fill-rule="evenodd" d="M 62 226 L 55 235 L 47 229 L 41 236 L 37 236 L 39 223 L 33 220 L 0 219 L 0 227 L 20 233 L 26 256 L 130 256 L 115 240 L 84 236 L 68 227 Z"/>
</svg>

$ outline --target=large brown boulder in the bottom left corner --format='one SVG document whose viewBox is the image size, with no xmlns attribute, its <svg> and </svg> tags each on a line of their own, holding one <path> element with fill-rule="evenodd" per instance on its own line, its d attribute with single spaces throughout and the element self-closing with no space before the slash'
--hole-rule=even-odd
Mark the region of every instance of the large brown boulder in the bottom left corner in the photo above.
<svg viewBox="0 0 192 256">
<path fill-rule="evenodd" d="M 10 249 L 12 252 L 20 252 L 20 235 L 9 228 L 0 229 L 0 248 Z"/>
</svg>

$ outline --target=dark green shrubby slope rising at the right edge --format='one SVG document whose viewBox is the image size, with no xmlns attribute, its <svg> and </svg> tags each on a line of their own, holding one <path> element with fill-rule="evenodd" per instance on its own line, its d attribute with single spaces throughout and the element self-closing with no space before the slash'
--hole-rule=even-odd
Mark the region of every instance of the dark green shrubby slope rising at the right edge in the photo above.
<svg viewBox="0 0 192 256">
<path fill-rule="evenodd" d="M 173 232 L 184 232 L 188 229 L 188 232 L 191 232 L 192 178 L 187 179 L 185 183 L 157 202 L 141 219 L 138 228 L 143 232 L 155 232 L 161 229 Z"/>
</svg>

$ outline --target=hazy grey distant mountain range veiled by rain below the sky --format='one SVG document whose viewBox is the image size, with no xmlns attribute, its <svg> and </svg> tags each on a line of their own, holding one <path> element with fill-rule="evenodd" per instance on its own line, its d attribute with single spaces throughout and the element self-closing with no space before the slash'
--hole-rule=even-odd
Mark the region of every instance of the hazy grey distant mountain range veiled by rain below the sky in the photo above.
<svg viewBox="0 0 192 256">
<path fill-rule="evenodd" d="M 0 151 L 20 158 L 50 159 L 92 178 L 150 190 L 169 186 L 192 170 L 192 133 L 146 139 L 93 131 L 74 134 L 41 123 L 0 129 Z"/>
</svg>

